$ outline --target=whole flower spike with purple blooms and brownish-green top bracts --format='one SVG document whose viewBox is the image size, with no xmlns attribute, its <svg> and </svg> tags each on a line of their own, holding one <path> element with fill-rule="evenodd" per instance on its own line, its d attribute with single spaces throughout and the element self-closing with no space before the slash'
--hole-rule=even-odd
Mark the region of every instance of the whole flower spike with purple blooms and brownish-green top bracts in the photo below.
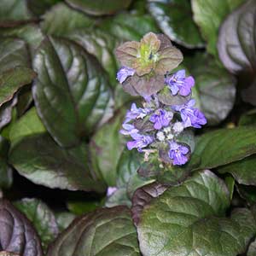
<svg viewBox="0 0 256 256">
<path fill-rule="evenodd" d="M 137 148 L 145 162 L 159 160 L 160 168 L 183 166 L 193 149 L 183 143 L 184 131 L 201 128 L 207 119 L 195 108 L 195 79 L 183 69 L 172 72 L 183 61 L 181 51 L 165 35 L 149 32 L 140 43 L 119 46 L 116 55 L 123 65 L 119 83 L 132 96 L 141 96 L 141 107 L 131 104 L 120 131 L 131 137 L 127 148 Z"/>
</svg>

